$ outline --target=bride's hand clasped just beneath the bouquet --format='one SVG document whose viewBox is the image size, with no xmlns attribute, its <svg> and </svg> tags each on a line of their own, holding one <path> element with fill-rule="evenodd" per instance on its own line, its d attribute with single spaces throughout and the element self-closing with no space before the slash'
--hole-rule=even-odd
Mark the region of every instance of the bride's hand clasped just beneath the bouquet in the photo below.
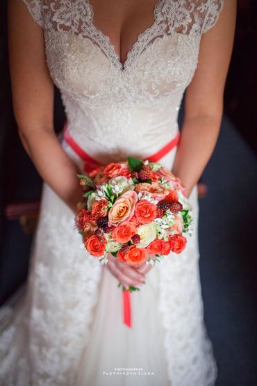
<svg viewBox="0 0 257 386">
<path fill-rule="evenodd" d="M 138 272 L 132 266 L 121 262 L 117 257 L 108 255 L 108 263 L 105 266 L 110 273 L 115 276 L 124 287 L 138 286 L 145 282 L 144 273 Z"/>
</svg>

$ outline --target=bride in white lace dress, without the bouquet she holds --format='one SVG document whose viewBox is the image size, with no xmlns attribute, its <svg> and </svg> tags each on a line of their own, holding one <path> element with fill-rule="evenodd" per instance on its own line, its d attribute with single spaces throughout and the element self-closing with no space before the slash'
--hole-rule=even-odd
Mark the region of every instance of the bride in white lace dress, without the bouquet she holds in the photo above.
<svg viewBox="0 0 257 386">
<path fill-rule="evenodd" d="M 8 25 L 15 118 L 44 186 L 26 291 L 0 335 L 1 385 L 213 385 L 197 181 L 219 133 L 235 0 L 10 0 Z M 60 137 L 53 84 L 67 115 Z M 185 89 L 179 145 L 164 152 Z M 74 227 L 84 156 L 104 164 L 160 150 L 193 207 L 188 246 L 154 268 L 102 266 Z M 131 328 L 118 282 L 140 286 Z"/>
</svg>

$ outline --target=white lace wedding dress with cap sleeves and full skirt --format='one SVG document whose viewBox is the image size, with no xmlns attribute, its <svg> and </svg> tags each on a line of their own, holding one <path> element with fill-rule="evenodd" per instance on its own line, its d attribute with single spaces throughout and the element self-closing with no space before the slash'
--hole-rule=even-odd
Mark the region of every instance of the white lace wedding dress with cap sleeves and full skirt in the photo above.
<svg viewBox="0 0 257 386">
<path fill-rule="evenodd" d="M 94 26 L 89 1 L 23 1 L 44 29 L 67 129 L 85 152 L 101 163 L 147 158 L 176 135 L 201 36 L 217 22 L 223 1 L 159 0 L 153 24 L 138 35 L 124 65 Z M 60 142 L 82 170 L 76 152 L 63 137 Z M 175 155 L 176 148 L 159 162 L 171 169 Z M 26 293 L 1 332 L 1 385 L 213 385 L 216 365 L 199 282 L 197 186 L 190 202 L 188 246 L 156 264 L 131 293 L 128 328 L 117 279 L 81 248 L 74 214 L 44 183 Z"/>
</svg>

